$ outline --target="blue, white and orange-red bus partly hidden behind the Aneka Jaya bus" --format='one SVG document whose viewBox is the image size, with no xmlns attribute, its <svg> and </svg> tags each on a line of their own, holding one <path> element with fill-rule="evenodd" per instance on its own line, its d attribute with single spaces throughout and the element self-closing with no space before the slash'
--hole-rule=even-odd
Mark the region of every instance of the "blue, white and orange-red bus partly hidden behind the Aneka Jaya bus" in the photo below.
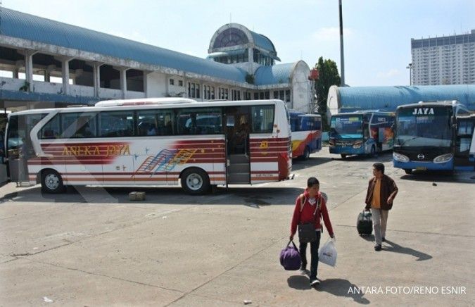
<svg viewBox="0 0 475 307">
<path fill-rule="evenodd" d="M 289 111 L 292 131 L 292 158 L 307 160 L 322 149 L 322 116 Z"/>
</svg>

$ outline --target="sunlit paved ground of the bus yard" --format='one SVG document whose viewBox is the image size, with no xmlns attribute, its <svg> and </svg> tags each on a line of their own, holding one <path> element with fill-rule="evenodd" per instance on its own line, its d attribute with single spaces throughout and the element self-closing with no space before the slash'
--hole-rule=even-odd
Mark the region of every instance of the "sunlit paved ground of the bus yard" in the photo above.
<svg viewBox="0 0 475 307">
<path fill-rule="evenodd" d="M 376 161 L 400 191 L 379 252 L 355 227 Z M 474 305 L 475 173 L 405 175 L 390 153 L 343 160 L 328 148 L 294 161 L 293 173 L 206 196 L 101 187 L 48 195 L 7 184 L 0 305 Z M 338 251 L 336 268 L 319 264 L 316 288 L 279 264 L 310 176 L 327 194 Z M 146 192 L 145 201 L 129 201 L 132 191 Z M 320 245 L 327 238 L 325 230 Z"/>
</svg>

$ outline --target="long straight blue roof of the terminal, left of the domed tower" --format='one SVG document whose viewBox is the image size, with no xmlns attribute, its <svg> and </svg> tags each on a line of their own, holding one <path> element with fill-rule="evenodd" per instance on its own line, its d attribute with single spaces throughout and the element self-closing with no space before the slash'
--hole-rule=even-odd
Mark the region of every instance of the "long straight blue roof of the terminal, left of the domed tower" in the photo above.
<svg viewBox="0 0 475 307">
<path fill-rule="evenodd" d="M 175 68 L 224 80 L 246 82 L 246 72 L 232 65 L 207 61 L 177 51 L 115 37 L 75 25 L 1 8 L 0 33 L 34 42 L 53 44 L 140 63 Z M 268 40 L 268 39 L 267 39 Z M 260 42 L 265 42 L 260 39 Z M 269 41 L 270 42 L 270 41 Z M 272 44 L 272 43 L 270 43 Z"/>
</svg>

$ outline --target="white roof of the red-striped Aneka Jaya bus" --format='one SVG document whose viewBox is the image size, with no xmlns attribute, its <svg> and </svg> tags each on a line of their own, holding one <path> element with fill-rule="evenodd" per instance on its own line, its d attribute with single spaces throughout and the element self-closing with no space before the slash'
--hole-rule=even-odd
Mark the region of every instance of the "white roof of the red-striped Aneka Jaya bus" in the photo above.
<svg viewBox="0 0 475 307">
<path fill-rule="evenodd" d="M 38 113 L 51 113 L 53 111 L 58 111 L 60 113 L 74 113 L 74 112 L 99 112 L 99 111 L 120 111 L 120 110 L 139 110 L 139 109 L 156 109 L 156 108 L 196 108 L 196 107 L 207 107 L 207 106 L 259 106 L 265 104 L 282 104 L 285 106 L 284 101 L 278 99 L 270 100 L 238 100 L 238 101 L 203 101 L 197 102 L 192 99 L 179 99 L 181 101 L 190 100 L 193 102 L 179 102 L 177 103 L 174 100 L 170 103 L 163 101 L 162 103 L 156 104 L 140 104 L 141 101 L 146 99 L 125 99 L 125 104 L 122 106 L 82 106 L 82 107 L 72 107 L 72 108 L 37 108 L 34 110 L 25 110 L 11 113 L 9 115 L 27 115 L 27 114 L 38 114 Z M 152 99 L 153 100 L 153 99 Z M 127 101 L 136 101 L 137 104 L 127 104 Z"/>
</svg>

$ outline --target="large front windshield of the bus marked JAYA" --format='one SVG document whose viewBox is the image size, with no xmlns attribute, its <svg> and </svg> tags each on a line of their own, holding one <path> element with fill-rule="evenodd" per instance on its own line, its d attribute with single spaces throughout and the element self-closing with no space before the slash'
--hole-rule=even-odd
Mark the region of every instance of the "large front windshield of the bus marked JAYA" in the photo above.
<svg viewBox="0 0 475 307">
<path fill-rule="evenodd" d="M 450 116 L 450 108 L 401 108 L 398 110 L 395 144 L 400 146 L 451 146 Z"/>
</svg>

